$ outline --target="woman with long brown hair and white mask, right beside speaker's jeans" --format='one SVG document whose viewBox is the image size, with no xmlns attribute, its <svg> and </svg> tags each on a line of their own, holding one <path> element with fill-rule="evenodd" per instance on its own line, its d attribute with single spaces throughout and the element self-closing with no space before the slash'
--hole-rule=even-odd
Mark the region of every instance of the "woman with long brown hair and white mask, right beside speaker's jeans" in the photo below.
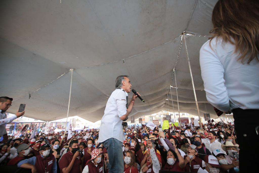
<svg viewBox="0 0 259 173">
<path fill-rule="evenodd" d="M 138 173 L 135 155 L 131 151 L 126 151 L 124 157 L 124 173 Z"/>
</svg>

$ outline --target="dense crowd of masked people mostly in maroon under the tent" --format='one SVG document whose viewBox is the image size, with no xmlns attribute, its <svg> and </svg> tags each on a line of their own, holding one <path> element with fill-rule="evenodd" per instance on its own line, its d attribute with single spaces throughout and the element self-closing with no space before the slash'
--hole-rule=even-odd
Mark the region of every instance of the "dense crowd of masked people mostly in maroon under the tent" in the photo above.
<svg viewBox="0 0 259 173">
<path fill-rule="evenodd" d="M 239 172 L 238 141 L 234 126 L 206 123 L 202 128 L 189 126 L 159 131 L 142 126 L 124 129 L 124 172 Z M 161 130 L 161 129 L 160 129 Z M 9 136 L 1 143 L 0 164 L 21 172 L 109 172 L 109 156 L 98 143 L 98 129 Z M 30 140 L 29 140 L 30 139 Z"/>
</svg>

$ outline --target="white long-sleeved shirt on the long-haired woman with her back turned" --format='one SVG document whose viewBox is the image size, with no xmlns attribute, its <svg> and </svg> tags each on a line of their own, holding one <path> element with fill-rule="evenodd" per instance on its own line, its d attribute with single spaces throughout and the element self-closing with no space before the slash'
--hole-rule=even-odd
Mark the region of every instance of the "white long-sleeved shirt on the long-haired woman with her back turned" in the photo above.
<svg viewBox="0 0 259 173">
<path fill-rule="evenodd" d="M 238 60 L 235 45 L 222 38 L 208 40 L 200 49 L 200 68 L 206 98 L 223 112 L 259 108 L 259 62 Z"/>
</svg>

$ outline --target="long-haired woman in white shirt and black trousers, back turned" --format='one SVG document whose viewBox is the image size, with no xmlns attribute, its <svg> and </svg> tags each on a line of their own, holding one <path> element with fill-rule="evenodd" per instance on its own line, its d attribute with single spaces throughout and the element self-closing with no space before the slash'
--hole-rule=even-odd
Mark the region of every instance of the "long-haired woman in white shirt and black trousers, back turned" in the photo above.
<svg viewBox="0 0 259 173">
<path fill-rule="evenodd" d="M 212 37 L 200 49 L 208 102 L 233 112 L 240 144 L 240 172 L 256 166 L 250 141 L 259 140 L 259 1 L 219 0 L 212 12 Z M 249 124 L 249 130 L 243 129 Z M 254 150 L 254 155 L 259 151 Z"/>
</svg>

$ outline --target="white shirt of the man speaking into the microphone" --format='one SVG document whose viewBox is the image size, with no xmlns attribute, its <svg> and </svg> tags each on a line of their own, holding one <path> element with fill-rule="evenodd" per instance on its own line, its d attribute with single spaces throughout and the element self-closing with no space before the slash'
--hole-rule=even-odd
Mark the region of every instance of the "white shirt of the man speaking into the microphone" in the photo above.
<svg viewBox="0 0 259 173">
<path fill-rule="evenodd" d="M 125 140 L 122 130 L 121 116 L 127 113 L 126 96 L 128 93 L 123 89 L 115 89 L 107 101 L 104 115 L 101 120 L 98 142 L 103 142 L 109 138 L 115 138 L 121 142 Z"/>
</svg>

